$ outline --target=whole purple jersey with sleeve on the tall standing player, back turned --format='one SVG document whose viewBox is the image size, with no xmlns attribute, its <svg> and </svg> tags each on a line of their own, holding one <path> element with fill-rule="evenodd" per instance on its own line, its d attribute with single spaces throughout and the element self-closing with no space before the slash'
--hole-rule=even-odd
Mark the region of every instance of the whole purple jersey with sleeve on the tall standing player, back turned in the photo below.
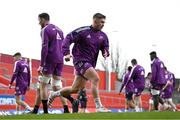
<svg viewBox="0 0 180 120">
<path fill-rule="evenodd" d="M 46 25 L 41 31 L 41 66 L 46 63 L 63 63 L 63 32 L 53 24 Z"/>
</svg>

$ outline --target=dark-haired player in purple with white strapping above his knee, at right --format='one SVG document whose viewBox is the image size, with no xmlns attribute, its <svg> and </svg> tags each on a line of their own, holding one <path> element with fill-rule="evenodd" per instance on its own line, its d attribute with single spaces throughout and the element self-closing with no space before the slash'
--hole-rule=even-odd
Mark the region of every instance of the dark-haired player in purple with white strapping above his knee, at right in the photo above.
<svg viewBox="0 0 180 120">
<path fill-rule="evenodd" d="M 160 91 L 166 84 L 164 63 L 157 57 L 155 51 L 150 53 L 151 64 L 151 94 L 153 96 L 154 109 L 157 111 L 159 103 L 164 106 L 164 102 L 160 97 Z"/>
</svg>

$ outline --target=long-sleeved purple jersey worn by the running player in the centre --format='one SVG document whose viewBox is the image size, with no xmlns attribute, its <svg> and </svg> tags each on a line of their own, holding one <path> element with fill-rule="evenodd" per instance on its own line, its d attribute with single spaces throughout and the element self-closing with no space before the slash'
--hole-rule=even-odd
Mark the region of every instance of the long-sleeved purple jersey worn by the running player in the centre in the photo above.
<svg viewBox="0 0 180 120">
<path fill-rule="evenodd" d="M 72 49 L 73 63 L 79 61 L 89 62 L 93 67 L 96 66 L 99 50 L 108 53 L 109 41 L 107 35 L 95 30 L 92 26 L 78 28 L 69 33 L 63 41 L 63 54 L 70 54 L 69 46 L 74 43 Z"/>
</svg>

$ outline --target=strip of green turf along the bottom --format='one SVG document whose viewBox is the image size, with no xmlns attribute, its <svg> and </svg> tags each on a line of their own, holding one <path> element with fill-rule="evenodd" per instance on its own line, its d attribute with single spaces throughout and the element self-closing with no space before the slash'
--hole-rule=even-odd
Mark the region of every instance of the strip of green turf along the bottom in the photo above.
<svg viewBox="0 0 180 120">
<path fill-rule="evenodd" d="M 49 119 L 71 119 L 71 120 L 91 120 L 91 119 L 136 119 L 136 120 L 180 120 L 180 112 L 131 112 L 131 113 L 76 113 L 76 114 L 48 114 L 48 115 L 16 115 L 16 116 L 0 116 L 0 119 L 14 119 L 14 120 L 49 120 Z"/>
</svg>

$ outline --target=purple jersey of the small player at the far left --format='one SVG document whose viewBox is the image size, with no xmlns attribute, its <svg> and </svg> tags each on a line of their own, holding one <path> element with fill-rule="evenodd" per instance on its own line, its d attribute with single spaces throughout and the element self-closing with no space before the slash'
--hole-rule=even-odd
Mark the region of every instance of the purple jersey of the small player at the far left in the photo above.
<svg viewBox="0 0 180 120">
<path fill-rule="evenodd" d="M 28 87 L 30 85 L 30 79 L 31 75 L 28 63 L 23 59 L 16 61 L 10 84 L 16 81 L 17 87 Z"/>
</svg>

